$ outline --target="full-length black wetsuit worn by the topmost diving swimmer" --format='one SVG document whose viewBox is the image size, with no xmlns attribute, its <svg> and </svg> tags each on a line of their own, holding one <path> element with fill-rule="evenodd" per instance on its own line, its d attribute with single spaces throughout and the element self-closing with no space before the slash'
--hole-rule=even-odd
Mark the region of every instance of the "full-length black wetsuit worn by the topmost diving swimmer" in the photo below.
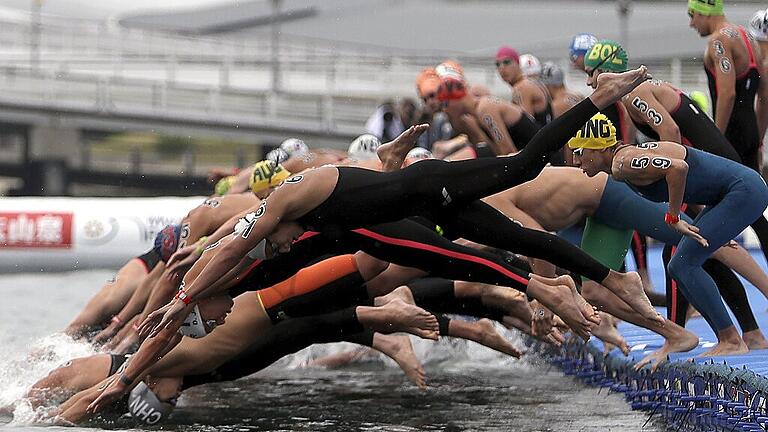
<svg viewBox="0 0 768 432">
<path fill-rule="evenodd" d="M 592 101 L 585 99 L 541 129 L 520 153 L 511 157 L 424 160 L 387 173 L 338 167 L 331 195 L 298 222 L 308 231 L 341 235 L 349 229 L 424 216 L 468 240 L 545 259 L 602 281 L 610 270 L 582 250 L 548 233 L 521 228 L 479 201 L 535 178 L 544 168 L 547 155 L 561 148 L 597 111 Z M 466 260 L 472 261 L 471 256 Z M 520 284 L 516 288 L 520 289 Z"/>
</svg>

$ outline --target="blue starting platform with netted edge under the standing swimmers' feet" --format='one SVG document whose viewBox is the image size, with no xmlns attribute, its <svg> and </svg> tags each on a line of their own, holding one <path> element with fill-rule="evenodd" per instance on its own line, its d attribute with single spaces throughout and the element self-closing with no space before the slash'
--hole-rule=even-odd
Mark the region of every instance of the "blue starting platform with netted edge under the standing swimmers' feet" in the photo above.
<svg viewBox="0 0 768 432">
<path fill-rule="evenodd" d="M 659 249 L 652 249 L 648 256 L 656 291 L 664 288 L 659 254 Z M 765 268 L 762 253 L 756 251 L 752 255 Z M 743 282 L 757 322 L 765 332 L 768 300 L 754 286 Z M 666 313 L 663 309 L 660 312 Z M 569 342 L 559 349 L 542 345 L 540 352 L 566 375 L 622 393 L 633 410 L 646 411 L 671 429 L 768 431 L 768 350 L 700 357 L 717 339 L 702 318 L 689 320 L 686 328 L 699 336 L 699 345 L 689 352 L 670 355 L 670 361 L 655 371 L 648 366 L 635 370 L 635 363 L 659 349 L 664 339 L 628 323 L 621 323 L 619 331 L 631 347 L 629 356 L 618 349 L 605 354 L 603 344 L 595 338 L 587 343 Z"/>
</svg>

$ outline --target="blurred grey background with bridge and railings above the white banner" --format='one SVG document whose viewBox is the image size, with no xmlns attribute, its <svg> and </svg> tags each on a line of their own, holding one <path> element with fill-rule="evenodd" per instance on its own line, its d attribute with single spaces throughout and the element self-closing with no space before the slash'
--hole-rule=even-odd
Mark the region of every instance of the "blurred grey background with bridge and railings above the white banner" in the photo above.
<svg viewBox="0 0 768 432">
<path fill-rule="evenodd" d="M 508 98 L 500 45 L 569 70 L 573 35 L 705 90 L 685 1 L 0 0 L 0 193 L 207 194 L 288 137 L 346 148 L 419 71 L 459 60 Z M 728 1 L 746 23 L 765 4 Z"/>
</svg>

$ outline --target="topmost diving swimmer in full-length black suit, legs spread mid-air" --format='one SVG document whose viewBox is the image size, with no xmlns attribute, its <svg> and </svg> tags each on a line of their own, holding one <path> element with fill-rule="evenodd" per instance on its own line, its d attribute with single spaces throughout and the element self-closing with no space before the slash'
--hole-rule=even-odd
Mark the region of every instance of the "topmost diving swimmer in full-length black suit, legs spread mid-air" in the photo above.
<svg viewBox="0 0 768 432">
<path fill-rule="evenodd" d="M 353 228 L 382 223 L 387 220 L 398 220 L 413 214 L 414 206 L 409 200 L 416 200 L 419 207 L 426 205 L 424 208 L 429 210 L 430 218 L 437 219 L 441 226 L 444 224 L 449 226 L 452 224 L 451 221 L 456 220 L 456 217 L 461 217 L 462 212 L 470 208 L 464 207 L 467 205 L 471 205 L 475 212 L 473 215 L 474 223 L 480 222 L 484 216 L 477 212 L 483 207 L 473 204 L 477 202 L 475 200 L 535 177 L 543 167 L 544 154 L 561 146 L 563 144 L 561 139 L 565 137 L 572 126 L 576 125 L 577 121 L 580 122 L 588 115 L 594 114 L 600 107 L 613 103 L 627 91 L 647 79 L 647 72 L 644 67 L 641 67 L 629 73 L 614 76 L 603 74 L 602 77 L 601 85 L 598 86 L 597 90 L 577 106 L 580 109 L 574 108 L 569 111 L 569 115 L 557 119 L 551 126 L 543 129 L 526 149 L 514 157 L 486 158 L 454 163 L 422 161 L 391 173 L 376 173 L 345 167 L 323 167 L 307 172 L 303 176 L 288 179 L 283 187 L 276 189 L 270 195 L 269 209 L 267 209 L 267 204 L 262 205 L 261 210 L 253 209 L 256 217 L 248 223 L 243 235 L 233 238 L 226 246 L 220 247 L 216 257 L 212 259 L 195 281 L 188 285 L 185 290 L 180 291 L 179 298 L 155 313 L 152 319 L 147 320 L 145 324 L 151 327 L 155 324 L 155 319 L 161 318 L 161 314 L 165 314 L 166 316 L 162 317 L 159 324 L 154 325 L 154 327 L 157 329 L 166 328 L 166 326 L 168 329 L 178 327 L 180 324 L 178 317 L 188 309 L 187 304 L 191 305 L 198 298 L 203 298 L 219 290 L 220 285 L 217 281 L 236 267 L 248 251 L 260 254 L 267 243 L 270 243 L 275 245 L 279 252 L 288 252 L 291 243 L 301 236 L 307 228 L 323 230 L 333 226 L 333 229 L 337 230 L 345 227 Z M 401 135 L 398 140 L 382 145 L 379 148 L 380 158 L 382 160 L 396 158 L 402 161 L 418 134 L 425 128 L 425 125 L 413 127 Z M 535 145 L 533 145 L 534 143 Z M 472 182 L 462 182 L 458 188 L 451 185 L 450 182 L 445 183 L 450 178 L 459 180 L 462 176 L 474 172 L 475 168 L 480 170 L 483 176 L 473 176 Z M 499 174 L 493 174 L 493 170 L 497 169 L 500 170 Z M 440 174 L 443 171 L 444 173 Z M 425 187 L 417 188 L 415 184 L 407 186 L 406 183 L 403 183 L 411 177 L 419 185 Z M 429 187 L 429 181 L 435 178 L 443 179 L 442 192 L 438 193 L 440 198 L 436 202 L 431 198 L 432 193 Z M 488 179 L 488 181 L 480 181 L 483 178 Z M 411 198 L 404 197 L 400 193 L 385 194 L 383 192 L 387 189 L 374 185 L 379 181 L 385 182 L 388 187 L 401 185 L 405 186 L 402 190 L 419 191 L 423 189 L 424 192 L 417 193 Z M 365 195 L 355 193 L 352 197 L 344 192 L 348 187 L 358 189 L 362 185 L 375 188 L 377 191 L 375 198 L 361 201 Z M 354 199 L 354 204 L 347 204 L 347 199 Z M 345 210 L 340 213 L 333 210 L 335 208 L 344 208 Z M 482 210 L 481 213 L 490 216 L 488 210 Z M 497 218 L 496 213 L 494 213 L 493 219 L 494 222 L 481 225 L 493 226 L 497 219 L 502 225 L 508 225 L 508 220 L 503 217 Z M 455 225 L 457 228 L 462 226 L 462 224 Z M 473 230 L 466 232 L 465 230 L 463 237 L 491 246 L 494 246 L 494 243 L 499 243 L 498 237 L 494 237 L 498 233 L 491 236 L 487 234 L 487 232 L 478 233 Z M 528 232 L 526 232 L 527 234 Z M 541 233 L 541 235 L 546 236 L 547 234 Z M 267 237 L 269 237 L 269 242 L 267 242 Z M 551 239 L 551 241 L 556 241 L 555 238 Z M 523 238 L 519 240 L 523 240 Z M 601 281 L 603 285 L 613 290 L 646 318 L 663 321 L 643 294 L 637 275 L 624 275 L 608 270 L 602 265 L 596 265 L 597 263 L 584 256 L 581 251 L 567 245 L 547 251 L 532 250 L 526 255 L 535 257 L 537 253 L 542 254 L 540 258 L 550 260 L 565 268 L 571 267 L 571 270 L 575 270 L 577 273 Z M 592 266 L 595 267 L 592 268 Z M 518 289 L 523 289 L 525 286 L 520 282 L 506 283 L 505 285 Z M 570 300 L 563 303 L 566 298 L 574 297 L 573 293 L 566 297 L 566 291 L 570 291 L 570 289 L 564 287 L 562 295 L 553 297 L 551 294 L 554 292 L 545 288 L 538 281 L 532 280 L 527 286 L 527 292 L 530 295 L 534 298 L 541 297 L 539 300 L 561 316 L 569 326 L 580 328 L 584 325 L 584 315 L 582 312 L 578 312 L 578 306 L 571 309 L 575 305 L 570 303 Z M 189 308 L 191 309 L 191 306 Z M 181 316 L 185 315 L 186 313 Z"/>
</svg>

